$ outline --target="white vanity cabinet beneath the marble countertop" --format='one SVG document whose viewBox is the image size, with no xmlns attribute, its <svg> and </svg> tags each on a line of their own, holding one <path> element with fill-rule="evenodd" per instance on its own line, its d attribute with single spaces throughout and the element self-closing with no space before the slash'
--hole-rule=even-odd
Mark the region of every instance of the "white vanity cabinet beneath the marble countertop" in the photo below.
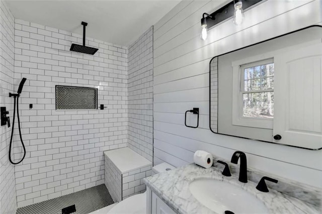
<svg viewBox="0 0 322 214">
<path fill-rule="evenodd" d="M 161 198 L 159 198 L 150 188 L 146 189 L 146 213 L 147 214 L 175 214 Z"/>
</svg>

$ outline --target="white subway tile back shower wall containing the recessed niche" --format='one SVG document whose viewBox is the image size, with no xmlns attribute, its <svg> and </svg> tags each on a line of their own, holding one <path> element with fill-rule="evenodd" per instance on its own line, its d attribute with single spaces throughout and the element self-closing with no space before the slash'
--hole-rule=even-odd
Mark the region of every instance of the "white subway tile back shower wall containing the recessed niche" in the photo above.
<svg viewBox="0 0 322 214">
<path fill-rule="evenodd" d="M 18 207 L 104 183 L 103 151 L 127 146 L 127 47 L 87 38 L 99 48 L 95 55 L 69 51 L 82 39 L 16 19 L 15 83 L 27 78 L 20 105 L 27 155 L 15 168 Z M 105 109 L 55 110 L 55 85 L 97 87 Z"/>
</svg>

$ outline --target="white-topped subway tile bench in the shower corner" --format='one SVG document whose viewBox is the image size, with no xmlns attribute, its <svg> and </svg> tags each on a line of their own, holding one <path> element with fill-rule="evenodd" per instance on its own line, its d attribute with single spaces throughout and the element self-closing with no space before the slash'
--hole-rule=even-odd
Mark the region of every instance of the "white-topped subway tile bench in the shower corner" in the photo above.
<svg viewBox="0 0 322 214">
<path fill-rule="evenodd" d="M 145 191 L 143 178 L 151 175 L 151 161 L 128 147 L 105 151 L 104 158 L 104 183 L 115 202 Z"/>
</svg>

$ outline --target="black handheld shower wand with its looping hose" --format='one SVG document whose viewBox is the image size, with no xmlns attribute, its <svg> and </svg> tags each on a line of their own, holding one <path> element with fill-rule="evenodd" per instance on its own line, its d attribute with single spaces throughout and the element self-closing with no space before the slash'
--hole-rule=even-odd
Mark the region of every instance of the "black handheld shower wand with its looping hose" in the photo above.
<svg viewBox="0 0 322 214">
<path fill-rule="evenodd" d="M 12 130 L 11 130 L 11 138 L 10 138 L 10 146 L 9 146 L 9 161 L 12 163 L 12 164 L 19 164 L 21 163 L 25 156 L 26 156 L 26 148 L 25 148 L 25 145 L 24 145 L 24 142 L 22 140 L 22 136 L 21 136 L 21 129 L 20 129 L 20 119 L 19 119 L 19 104 L 18 104 L 18 98 L 22 92 L 22 88 L 26 82 L 26 78 L 22 78 L 20 84 L 19 84 L 19 88 L 18 88 L 18 91 L 17 93 L 9 93 L 9 96 L 10 97 L 14 97 L 14 118 L 13 118 L 13 121 L 12 121 Z M 21 144 L 22 144 L 22 147 L 24 149 L 24 156 L 22 157 L 22 159 L 19 161 L 19 162 L 13 162 L 11 160 L 11 147 L 12 147 L 12 140 L 13 140 L 13 137 L 14 137 L 14 128 L 15 128 L 15 116 L 16 116 L 16 98 L 17 98 L 17 118 L 18 118 L 18 128 L 19 128 L 19 136 L 20 136 L 20 140 L 21 140 Z"/>
</svg>

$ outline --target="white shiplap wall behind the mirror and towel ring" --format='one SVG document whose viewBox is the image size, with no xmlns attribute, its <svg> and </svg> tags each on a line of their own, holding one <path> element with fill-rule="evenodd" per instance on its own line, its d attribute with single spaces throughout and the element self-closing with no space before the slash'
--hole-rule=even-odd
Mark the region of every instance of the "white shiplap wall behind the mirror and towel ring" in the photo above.
<svg viewBox="0 0 322 214">
<path fill-rule="evenodd" d="M 322 187 L 322 151 L 310 151 L 224 135 L 209 130 L 209 62 L 213 56 L 321 22 L 321 2 L 268 0 L 245 12 L 243 25 L 227 20 L 199 38 L 200 18 L 227 1 L 182 1 L 154 25 L 154 165 L 193 162 L 196 150 L 230 160 L 244 151 L 251 168 L 275 177 Z M 229 95 L 229 94 L 227 94 Z M 200 108 L 199 128 L 184 113 Z M 303 142 L 304 143 L 304 142 Z"/>
</svg>

